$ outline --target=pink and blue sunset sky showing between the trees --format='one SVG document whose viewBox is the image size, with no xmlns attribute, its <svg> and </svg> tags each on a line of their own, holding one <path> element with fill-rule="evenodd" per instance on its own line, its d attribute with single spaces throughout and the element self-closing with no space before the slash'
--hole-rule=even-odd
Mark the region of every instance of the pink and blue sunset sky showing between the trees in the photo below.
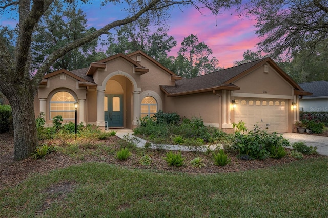
<svg viewBox="0 0 328 218">
<path fill-rule="evenodd" d="M 103 6 L 99 2 L 83 5 L 83 11 L 87 14 L 88 25 L 100 28 L 117 18 L 125 17 L 118 6 Z M 100 10 L 99 10 L 100 8 Z M 177 46 L 169 55 L 177 56 L 181 42 L 190 34 L 198 36 L 199 42 L 203 41 L 213 50 L 213 56 L 219 60 L 219 66 L 228 68 L 233 66 L 234 61 L 242 60 L 246 50 L 257 51 L 255 48 L 259 42 L 253 27 L 255 21 L 250 18 L 240 18 L 234 10 L 222 11 L 216 18 L 208 11 L 200 14 L 194 8 L 177 7 L 172 11 L 168 20 L 170 29 L 169 36 L 177 41 Z M 6 15 L 0 15 L 0 25 L 15 26 L 14 20 L 8 20 Z"/>
</svg>

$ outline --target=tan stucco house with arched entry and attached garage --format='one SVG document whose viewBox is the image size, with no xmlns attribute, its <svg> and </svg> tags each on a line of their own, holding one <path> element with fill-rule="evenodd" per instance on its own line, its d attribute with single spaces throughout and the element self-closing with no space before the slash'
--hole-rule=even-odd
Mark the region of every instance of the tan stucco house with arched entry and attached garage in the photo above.
<svg viewBox="0 0 328 218">
<path fill-rule="evenodd" d="M 117 54 L 90 64 L 47 74 L 34 100 L 35 114 L 46 125 L 61 115 L 100 128 L 138 126 L 139 118 L 158 110 L 200 117 L 207 126 L 232 132 L 243 121 L 249 129 L 270 124 L 269 132 L 293 132 L 299 96 L 311 95 L 270 58 L 192 79 L 177 76 L 147 54 Z M 296 107 L 296 108 L 295 108 Z"/>
</svg>

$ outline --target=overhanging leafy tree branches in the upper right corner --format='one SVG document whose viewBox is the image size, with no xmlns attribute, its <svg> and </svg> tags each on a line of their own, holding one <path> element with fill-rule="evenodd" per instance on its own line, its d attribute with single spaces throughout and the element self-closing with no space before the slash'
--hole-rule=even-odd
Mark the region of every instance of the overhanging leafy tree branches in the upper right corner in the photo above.
<svg viewBox="0 0 328 218">
<path fill-rule="evenodd" d="M 293 52 L 314 52 L 328 38 L 327 0 L 251 0 L 242 8 L 255 16 L 259 49 L 272 58 L 292 57 Z"/>
</svg>

